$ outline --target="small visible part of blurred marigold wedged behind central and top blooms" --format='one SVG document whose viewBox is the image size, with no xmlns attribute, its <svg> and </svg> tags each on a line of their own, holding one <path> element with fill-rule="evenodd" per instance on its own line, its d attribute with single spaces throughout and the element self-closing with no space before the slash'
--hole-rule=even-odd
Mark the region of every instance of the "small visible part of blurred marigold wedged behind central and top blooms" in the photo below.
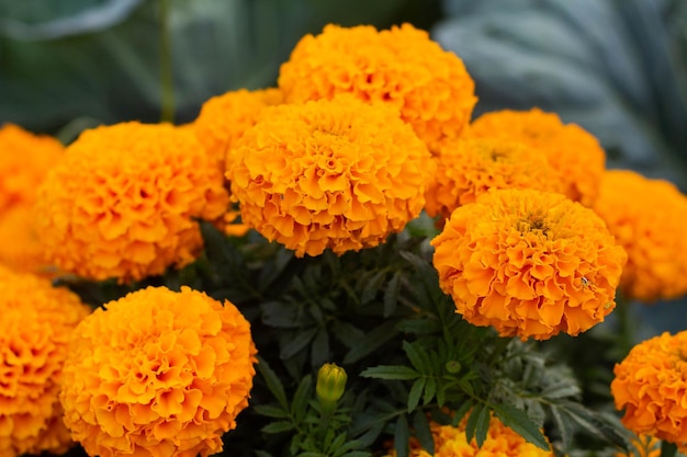
<svg viewBox="0 0 687 457">
<path fill-rule="evenodd" d="M 228 149 L 256 124 L 262 108 L 281 104 L 282 99 L 279 89 L 229 91 L 203 103 L 191 125 L 207 153 L 224 169 Z"/>
</svg>

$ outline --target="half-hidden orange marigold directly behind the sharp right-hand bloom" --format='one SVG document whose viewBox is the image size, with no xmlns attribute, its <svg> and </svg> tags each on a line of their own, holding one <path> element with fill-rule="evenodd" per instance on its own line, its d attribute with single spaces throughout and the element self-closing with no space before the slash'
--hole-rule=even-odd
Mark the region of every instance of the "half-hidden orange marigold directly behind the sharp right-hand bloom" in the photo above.
<svg viewBox="0 0 687 457">
<path fill-rule="evenodd" d="M 425 194 L 431 217 L 446 219 L 489 188 L 562 191 L 555 170 L 539 150 L 506 138 L 443 141 L 435 160 L 437 173 Z"/>
</svg>

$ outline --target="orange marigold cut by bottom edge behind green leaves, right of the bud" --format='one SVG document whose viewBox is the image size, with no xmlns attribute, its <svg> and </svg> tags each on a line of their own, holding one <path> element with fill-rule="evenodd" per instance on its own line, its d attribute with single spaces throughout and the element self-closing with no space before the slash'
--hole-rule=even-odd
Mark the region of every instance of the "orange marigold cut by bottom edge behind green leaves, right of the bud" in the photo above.
<svg viewBox="0 0 687 457">
<path fill-rule="evenodd" d="M 461 421 L 458 426 L 431 422 L 430 430 L 435 439 L 433 455 L 436 457 L 553 457 L 552 450 L 544 450 L 528 443 L 496 416 L 492 416 L 489 421 L 489 430 L 481 448 L 477 447 L 475 438 L 468 443 L 465 425 L 466 420 Z M 388 457 L 395 456 L 395 450 L 388 454 Z M 410 439 L 410 457 L 430 456 L 421 448 L 417 439 Z"/>
</svg>

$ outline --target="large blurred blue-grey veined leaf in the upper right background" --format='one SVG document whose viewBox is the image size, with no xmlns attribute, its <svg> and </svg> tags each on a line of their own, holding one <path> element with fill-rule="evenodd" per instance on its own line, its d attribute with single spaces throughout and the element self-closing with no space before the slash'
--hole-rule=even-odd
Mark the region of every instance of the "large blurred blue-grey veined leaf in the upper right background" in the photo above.
<svg viewBox="0 0 687 457">
<path fill-rule="evenodd" d="M 446 0 L 433 30 L 476 82 L 475 114 L 540 106 L 594 133 L 610 167 L 685 183 L 685 62 L 669 0 Z M 671 13 L 668 14 L 668 10 Z M 680 22 L 682 21 L 682 22 Z M 684 89 L 684 88 L 683 88 Z"/>
</svg>

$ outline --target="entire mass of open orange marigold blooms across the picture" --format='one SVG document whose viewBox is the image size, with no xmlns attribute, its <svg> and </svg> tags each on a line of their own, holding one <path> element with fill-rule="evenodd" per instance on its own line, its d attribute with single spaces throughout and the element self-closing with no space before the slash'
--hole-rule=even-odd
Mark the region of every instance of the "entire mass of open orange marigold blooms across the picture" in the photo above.
<svg viewBox="0 0 687 457">
<path fill-rule="evenodd" d="M 66 148 L 3 126 L 0 457 L 74 441 L 103 457 L 222 449 L 256 363 L 233 304 L 150 287 L 91 312 L 49 282 L 187 265 L 203 249 L 198 219 L 314 256 L 378 245 L 425 210 L 457 312 L 523 340 L 588 330 L 617 289 L 646 302 L 687 292 L 674 185 L 607 170 L 598 141 L 553 113 L 473 121 L 476 102 L 461 59 L 427 33 L 328 25 L 277 88 L 215 96 L 189 125 L 101 126 Z M 638 345 L 611 386 L 629 429 L 678 446 L 686 339 Z M 474 455 L 463 427 L 432 425 L 436 454 Z M 551 455 L 495 418 L 488 449 Z"/>
</svg>

